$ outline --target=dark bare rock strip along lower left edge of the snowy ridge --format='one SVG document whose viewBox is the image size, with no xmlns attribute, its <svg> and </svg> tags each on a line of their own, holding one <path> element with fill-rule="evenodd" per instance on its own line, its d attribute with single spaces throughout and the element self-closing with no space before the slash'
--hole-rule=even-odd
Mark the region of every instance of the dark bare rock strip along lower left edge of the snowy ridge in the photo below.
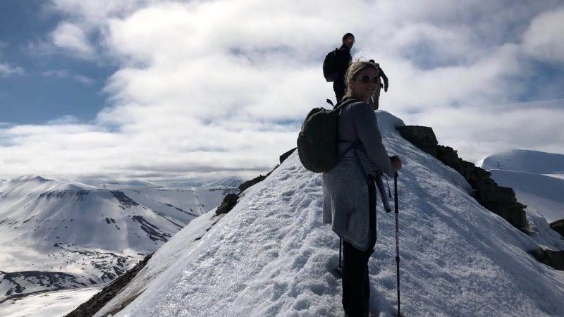
<svg viewBox="0 0 564 317">
<path fill-rule="evenodd" d="M 102 291 L 95 294 L 88 302 L 85 302 L 77 307 L 71 313 L 68 313 L 65 317 L 90 317 L 94 316 L 99 309 L 104 307 L 111 299 L 113 299 L 118 292 L 120 292 L 123 287 L 127 286 L 130 280 L 135 278 L 135 275 L 145 267 L 149 259 L 153 254 L 148 254 L 145 259 L 139 261 L 132 269 L 127 271 L 125 274 L 121 275 L 119 278 L 114 280 L 110 285 L 104 287 Z"/>
</svg>

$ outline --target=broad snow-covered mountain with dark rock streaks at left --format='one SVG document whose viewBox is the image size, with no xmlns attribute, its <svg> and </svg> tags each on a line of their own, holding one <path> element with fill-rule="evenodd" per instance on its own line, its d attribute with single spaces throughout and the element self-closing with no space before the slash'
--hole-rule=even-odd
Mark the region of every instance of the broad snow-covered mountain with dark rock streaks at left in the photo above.
<svg viewBox="0 0 564 317">
<path fill-rule="evenodd" d="M 101 189 L 27 175 L 0 186 L 0 302 L 102 286 L 235 188 Z"/>
</svg>

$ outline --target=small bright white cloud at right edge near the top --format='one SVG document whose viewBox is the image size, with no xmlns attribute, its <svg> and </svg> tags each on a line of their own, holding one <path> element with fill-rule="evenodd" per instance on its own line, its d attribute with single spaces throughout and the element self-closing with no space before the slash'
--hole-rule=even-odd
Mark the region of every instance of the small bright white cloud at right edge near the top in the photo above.
<svg viewBox="0 0 564 317">
<path fill-rule="evenodd" d="M 523 48 L 534 58 L 564 62 L 564 6 L 539 14 L 523 35 Z"/>
</svg>

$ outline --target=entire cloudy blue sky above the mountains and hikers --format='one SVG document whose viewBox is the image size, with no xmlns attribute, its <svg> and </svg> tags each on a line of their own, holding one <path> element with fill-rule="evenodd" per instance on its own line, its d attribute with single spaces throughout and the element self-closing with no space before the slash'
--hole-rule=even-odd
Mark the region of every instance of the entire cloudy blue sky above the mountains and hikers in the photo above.
<svg viewBox="0 0 564 317">
<path fill-rule="evenodd" d="M 345 32 L 390 78 L 381 108 L 464 159 L 564 153 L 562 21 L 552 0 L 2 1 L 0 178 L 264 173 L 334 98 Z"/>
</svg>

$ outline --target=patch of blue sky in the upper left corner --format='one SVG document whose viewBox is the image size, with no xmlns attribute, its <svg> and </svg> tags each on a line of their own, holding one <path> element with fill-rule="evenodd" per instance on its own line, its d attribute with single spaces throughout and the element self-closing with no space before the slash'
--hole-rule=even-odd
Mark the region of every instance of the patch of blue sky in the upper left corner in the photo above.
<svg viewBox="0 0 564 317">
<path fill-rule="evenodd" d="M 0 77 L 0 120 L 40 124 L 69 115 L 92 120 L 107 105 L 102 88 L 116 67 L 30 49 L 30 45 L 43 41 L 61 19 L 44 4 L 32 0 L 0 3 L 0 60 L 24 72 Z"/>
</svg>

